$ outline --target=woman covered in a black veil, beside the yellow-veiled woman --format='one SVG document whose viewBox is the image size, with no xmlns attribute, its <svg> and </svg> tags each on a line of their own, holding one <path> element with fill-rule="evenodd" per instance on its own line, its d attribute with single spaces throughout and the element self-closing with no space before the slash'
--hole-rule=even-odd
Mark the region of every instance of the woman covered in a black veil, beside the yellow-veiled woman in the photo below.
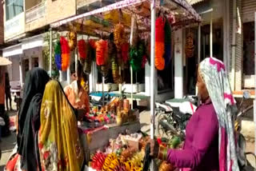
<svg viewBox="0 0 256 171">
<path fill-rule="evenodd" d="M 40 109 L 46 83 L 50 80 L 45 70 L 34 68 L 26 76 L 22 107 L 18 112 L 18 153 L 21 155 L 21 169 L 41 170 L 38 158 L 38 130 Z"/>
</svg>

